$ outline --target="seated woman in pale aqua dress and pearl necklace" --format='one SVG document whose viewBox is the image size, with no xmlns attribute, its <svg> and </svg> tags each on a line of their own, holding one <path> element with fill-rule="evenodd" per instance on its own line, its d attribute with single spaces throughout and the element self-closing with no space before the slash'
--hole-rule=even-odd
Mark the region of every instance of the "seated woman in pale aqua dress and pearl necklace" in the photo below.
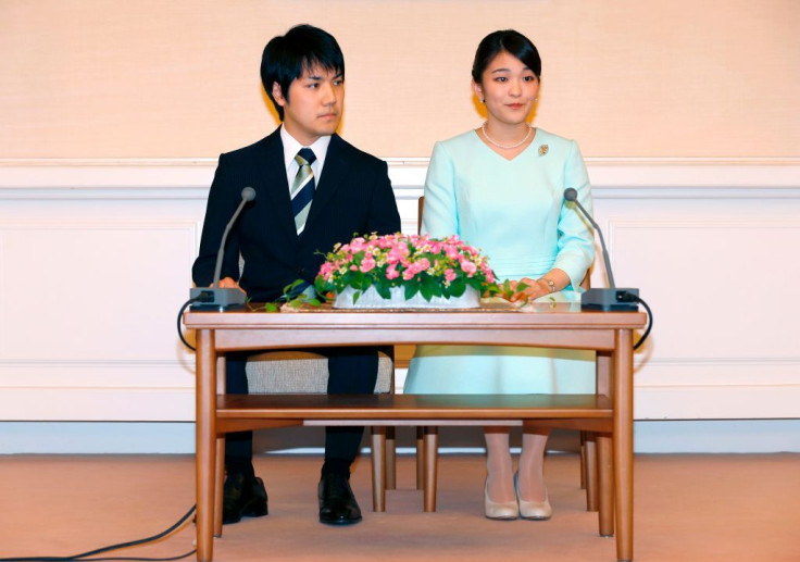
<svg viewBox="0 0 800 562">
<path fill-rule="evenodd" d="M 593 257 L 593 235 L 564 189 L 591 210 L 580 151 L 528 118 L 539 92 L 541 60 L 514 30 L 495 32 L 478 46 L 473 91 L 486 122 L 437 142 L 425 179 L 422 230 L 458 234 L 480 248 L 514 300 L 577 289 Z M 492 346 L 423 346 L 411 362 L 408 394 L 589 394 L 593 352 Z M 547 520 L 552 513 L 542 466 L 547 430 L 525 430 L 514 473 L 507 427 L 485 428 L 490 519 Z"/>
</svg>

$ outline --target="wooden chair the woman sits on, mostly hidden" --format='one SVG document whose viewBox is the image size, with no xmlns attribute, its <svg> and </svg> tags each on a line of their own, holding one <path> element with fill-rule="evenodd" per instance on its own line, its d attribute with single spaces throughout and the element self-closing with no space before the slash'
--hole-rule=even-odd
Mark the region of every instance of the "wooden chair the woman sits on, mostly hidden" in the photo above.
<svg viewBox="0 0 800 562">
<path fill-rule="evenodd" d="M 425 197 L 417 200 L 417 234 L 422 228 L 422 213 Z M 590 272 L 580 282 L 584 289 L 590 288 Z M 568 420 L 565 420 L 568 426 Z M 598 511 L 598 452 L 597 435 L 582 430 L 580 436 L 580 489 L 586 490 L 586 510 Z M 438 462 L 438 428 L 417 427 L 416 429 L 416 487 L 422 488 L 423 475 L 432 474 L 433 490 L 425 490 L 425 511 L 436 511 L 436 473 Z"/>
</svg>

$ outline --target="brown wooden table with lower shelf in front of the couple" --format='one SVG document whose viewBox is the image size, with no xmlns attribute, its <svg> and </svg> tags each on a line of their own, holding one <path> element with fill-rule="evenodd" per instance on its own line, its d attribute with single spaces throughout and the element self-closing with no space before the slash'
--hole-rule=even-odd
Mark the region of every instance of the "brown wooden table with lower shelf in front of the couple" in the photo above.
<svg viewBox="0 0 800 562">
<path fill-rule="evenodd" d="M 598 432 L 600 534 L 611 536 L 616 527 L 617 559 L 633 560 L 633 330 L 645 319 L 640 312 L 580 312 L 570 303 L 542 304 L 533 312 L 187 312 L 186 327 L 197 330 L 197 560 L 212 560 L 214 530 L 220 535 L 222 529 L 222 515 L 214 513 L 215 494 L 222 494 L 214 474 L 222 474 L 225 433 L 302 422 L 437 426 L 509 421 Z M 596 350 L 597 395 L 225 396 L 224 377 L 217 377 L 217 363 L 227 351 L 395 344 Z"/>
</svg>

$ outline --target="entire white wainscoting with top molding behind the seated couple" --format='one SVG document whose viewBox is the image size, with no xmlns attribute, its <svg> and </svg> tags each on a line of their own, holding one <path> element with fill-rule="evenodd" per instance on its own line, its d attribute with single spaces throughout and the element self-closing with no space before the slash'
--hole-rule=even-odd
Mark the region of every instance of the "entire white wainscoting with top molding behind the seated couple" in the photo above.
<svg viewBox="0 0 800 562">
<path fill-rule="evenodd" d="M 414 232 L 426 161 L 389 164 Z M 0 161 L 0 420 L 193 419 L 175 317 L 214 166 Z M 617 285 L 655 315 L 636 417 L 800 417 L 800 162 L 590 159 L 589 173 Z"/>
</svg>

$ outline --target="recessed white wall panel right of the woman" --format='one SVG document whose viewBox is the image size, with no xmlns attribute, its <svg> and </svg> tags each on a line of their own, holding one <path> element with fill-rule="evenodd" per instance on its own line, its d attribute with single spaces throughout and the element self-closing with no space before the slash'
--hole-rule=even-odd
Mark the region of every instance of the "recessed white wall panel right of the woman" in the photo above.
<svg viewBox="0 0 800 562">
<path fill-rule="evenodd" d="M 797 359 L 797 332 L 775 328 L 800 317 L 800 300 L 790 298 L 800 261 L 786 259 L 798 240 L 800 221 L 612 221 L 610 251 L 659 327 L 684 326 L 657 332 L 654 357 Z"/>
</svg>

